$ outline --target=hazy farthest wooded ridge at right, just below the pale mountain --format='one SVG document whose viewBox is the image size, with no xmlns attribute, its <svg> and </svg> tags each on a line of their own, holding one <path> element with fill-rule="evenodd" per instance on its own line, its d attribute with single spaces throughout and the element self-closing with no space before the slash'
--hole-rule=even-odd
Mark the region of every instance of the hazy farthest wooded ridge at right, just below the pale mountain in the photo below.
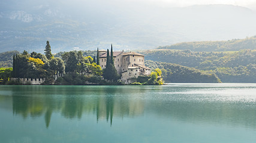
<svg viewBox="0 0 256 143">
<path fill-rule="evenodd" d="M 190 49 L 191 51 L 198 52 L 256 49 L 256 36 L 246 39 L 232 39 L 229 41 L 183 42 L 170 46 L 160 46 L 158 49 Z"/>
</svg>

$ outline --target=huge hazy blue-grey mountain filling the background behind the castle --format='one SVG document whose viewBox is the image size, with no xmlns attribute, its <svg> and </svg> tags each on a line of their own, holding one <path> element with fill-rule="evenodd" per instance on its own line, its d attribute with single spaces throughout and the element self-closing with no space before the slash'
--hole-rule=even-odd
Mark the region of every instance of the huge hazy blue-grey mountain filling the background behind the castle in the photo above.
<svg viewBox="0 0 256 143">
<path fill-rule="evenodd" d="M 160 7 L 145 1 L 0 2 L 1 52 L 152 49 L 188 41 L 255 35 L 254 11 L 234 5 Z"/>
</svg>

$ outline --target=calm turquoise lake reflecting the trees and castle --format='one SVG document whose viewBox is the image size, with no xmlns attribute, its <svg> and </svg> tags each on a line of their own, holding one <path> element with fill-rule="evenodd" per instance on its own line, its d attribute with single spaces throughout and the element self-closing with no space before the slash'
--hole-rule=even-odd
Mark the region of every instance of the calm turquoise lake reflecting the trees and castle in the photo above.
<svg viewBox="0 0 256 143">
<path fill-rule="evenodd" d="M 256 142 L 256 84 L 0 86 L 0 142 Z"/>
</svg>

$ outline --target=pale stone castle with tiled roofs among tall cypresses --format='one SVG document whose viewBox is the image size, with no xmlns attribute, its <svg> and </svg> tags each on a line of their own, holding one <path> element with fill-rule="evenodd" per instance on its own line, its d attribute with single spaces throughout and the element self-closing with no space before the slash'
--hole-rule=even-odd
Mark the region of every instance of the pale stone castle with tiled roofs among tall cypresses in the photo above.
<svg viewBox="0 0 256 143">
<path fill-rule="evenodd" d="M 107 51 L 99 50 L 101 69 L 106 68 Z M 121 75 L 121 80 L 130 83 L 132 77 L 149 76 L 151 69 L 144 65 L 144 55 L 137 52 L 113 52 L 116 71 Z"/>
</svg>

